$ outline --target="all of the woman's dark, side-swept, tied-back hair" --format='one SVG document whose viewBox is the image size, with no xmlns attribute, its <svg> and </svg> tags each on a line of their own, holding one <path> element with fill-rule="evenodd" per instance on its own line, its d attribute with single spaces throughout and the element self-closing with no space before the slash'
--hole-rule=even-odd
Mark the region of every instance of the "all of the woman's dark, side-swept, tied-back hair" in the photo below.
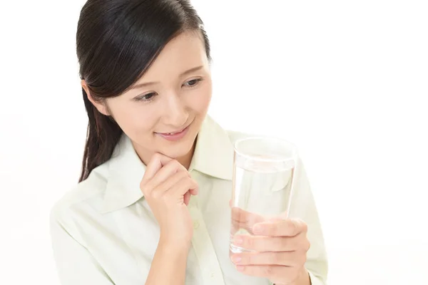
<svg viewBox="0 0 428 285">
<path fill-rule="evenodd" d="M 184 31 L 202 36 L 210 60 L 203 21 L 188 0 L 88 0 L 76 36 L 81 79 L 94 100 L 121 95 Z M 98 112 L 83 88 L 82 92 L 89 122 L 79 182 L 111 158 L 123 133 L 113 118 Z"/>
</svg>

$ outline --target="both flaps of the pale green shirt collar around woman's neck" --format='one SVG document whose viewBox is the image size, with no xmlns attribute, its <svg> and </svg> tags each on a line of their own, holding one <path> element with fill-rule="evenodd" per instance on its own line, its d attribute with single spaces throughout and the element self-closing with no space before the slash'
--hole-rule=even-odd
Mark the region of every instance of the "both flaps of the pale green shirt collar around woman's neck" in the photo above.
<svg viewBox="0 0 428 285">
<path fill-rule="evenodd" d="M 143 197 L 140 182 L 146 171 L 132 142 L 123 134 L 108 164 L 106 192 L 101 212 L 112 212 Z M 189 172 L 202 172 L 222 180 L 232 180 L 233 144 L 228 133 L 207 115 L 198 133 Z"/>
</svg>

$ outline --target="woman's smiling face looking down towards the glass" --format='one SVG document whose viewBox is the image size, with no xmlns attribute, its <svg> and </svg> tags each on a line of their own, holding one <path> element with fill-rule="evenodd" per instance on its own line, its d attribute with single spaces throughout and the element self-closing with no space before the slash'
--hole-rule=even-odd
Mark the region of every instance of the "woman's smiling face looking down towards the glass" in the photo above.
<svg viewBox="0 0 428 285">
<path fill-rule="evenodd" d="M 211 86 L 201 37 L 183 33 L 163 48 L 132 89 L 108 98 L 104 111 L 131 138 L 142 160 L 154 152 L 178 159 L 192 150 L 208 111 Z"/>
</svg>

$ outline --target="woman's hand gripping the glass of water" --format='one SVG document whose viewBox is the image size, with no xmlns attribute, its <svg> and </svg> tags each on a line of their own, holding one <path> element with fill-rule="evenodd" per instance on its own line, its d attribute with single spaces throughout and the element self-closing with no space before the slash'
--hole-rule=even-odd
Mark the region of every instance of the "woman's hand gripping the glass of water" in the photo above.
<svg viewBox="0 0 428 285">
<path fill-rule="evenodd" d="M 305 222 L 280 217 L 266 220 L 238 208 L 232 213 L 233 218 L 241 221 L 241 226 L 252 224 L 250 234 L 254 234 L 236 235 L 233 240 L 236 246 L 254 251 L 230 257 L 238 271 L 265 277 L 277 285 L 310 285 L 305 269 L 306 253 L 310 248 Z"/>
</svg>

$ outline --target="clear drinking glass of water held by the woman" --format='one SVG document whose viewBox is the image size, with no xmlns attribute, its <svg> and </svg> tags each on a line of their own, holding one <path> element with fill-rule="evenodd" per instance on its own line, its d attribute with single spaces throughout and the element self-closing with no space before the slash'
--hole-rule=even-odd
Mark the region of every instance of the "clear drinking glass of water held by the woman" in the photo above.
<svg viewBox="0 0 428 285">
<path fill-rule="evenodd" d="M 233 164 L 230 254 L 249 251 L 233 244 L 235 235 L 253 235 L 255 224 L 287 218 L 297 148 L 280 138 L 245 138 L 235 142 Z"/>
</svg>

